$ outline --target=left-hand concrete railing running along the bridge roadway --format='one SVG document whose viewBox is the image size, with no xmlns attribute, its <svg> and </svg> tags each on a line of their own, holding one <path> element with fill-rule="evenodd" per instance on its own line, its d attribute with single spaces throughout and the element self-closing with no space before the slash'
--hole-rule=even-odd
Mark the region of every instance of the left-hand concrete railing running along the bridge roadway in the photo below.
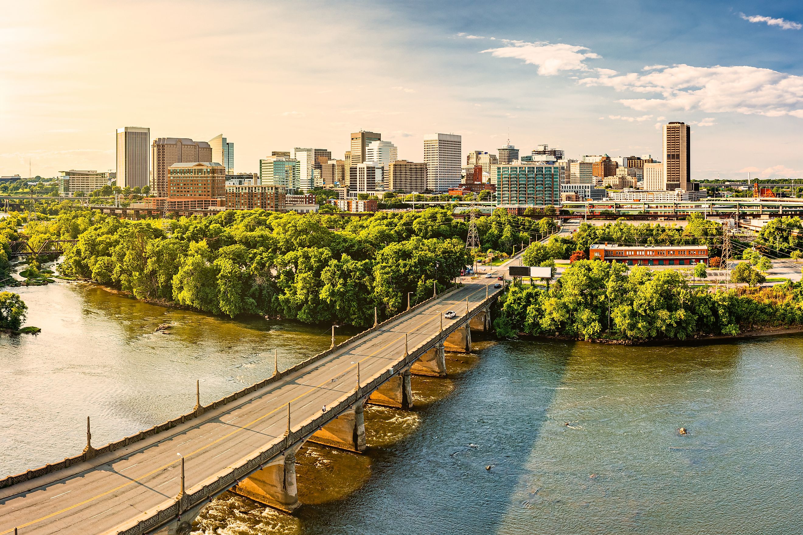
<svg viewBox="0 0 803 535">
<path fill-rule="evenodd" d="M 442 292 L 441 294 L 438 294 L 435 297 L 426 299 L 425 301 L 418 303 L 418 305 L 411 306 L 409 310 L 404 310 L 403 312 L 396 314 L 392 318 L 386 319 L 384 322 L 381 322 L 377 326 L 370 327 L 369 329 L 366 329 L 359 334 L 355 334 L 353 337 L 349 338 L 348 340 L 345 340 L 344 342 L 340 342 L 331 349 L 323 351 L 318 355 L 311 357 L 310 359 L 304 360 L 303 362 L 296 364 L 296 366 L 287 368 L 287 370 L 279 371 L 278 374 L 275 374 L 268 379 L 263 379 L 262 381 L 259 381 L 259 383 L 254 383 L 250 387 L 245 387 L 242 390 L 236 391 L 230 395 L 227 395 L 224 398 L 209 403 L 208 405 L 203 405 L 202 407 L 198 407 L 198 410 L 180 415 L 177 418 L 170 419 L 162 424 L 154 425 L 152 428 L 145 429 L 144 431 L 135 433 L 134 435 L 131 436 L 126 436 L 123 439 L 116 440 L 115 442 L 110 442 L 104 446 L 101 446 L 100 448 L 93 448 L 91 451 L 84 451 L 77 456 L 66 457 L 64 460 L 59 460 L 55 463 L 45 464 L 44 466 L 39 468 L 27 470 L 26 472 L 18 473 L 13 476 L 7 476 L 6 478 L 0 480 L 0 488 L 10 487 L 13 484 L 18 484 L 24 481 L 32 480 L 35 479 L 36 477 L 45 476 L 52 472 L 58 472 L 59 470 L 71 467 L 73 464 L 78 464 L 87 460 L 92 460 L 92 458 L 96 456 L 104 455 L 109 452 L 114 452 L 120 448 L 126 448 L 131 444 L 136 444 L 137 442 L 148 439 L 149 437 L 157 435 L 158 433 L 176 428 L 177 426 L 184 424 L 185 422 L 197 418 L 198 416 L 202 415 L 207 411 L 211 411 L 219 407 L 222 407 L 223 405 L 226 405 L 228 403 L 232 403 L 237 399 L 242 398 L 245 395 L 249 395 L 255 391 L 258 391 L 261 388 L 267 387 L 268 385 L 271 385 L 272 383 L 279 381 L 280 379 L 283 379 L 284 377 L 287 377 L 287 375 L 294 374 L 296 373 L 296 371 L 300 371 L 301 369 L 308 367 L 312 363 L 316 363 L 321 359 L 325 359 L 326 357 L 332 355 L 333 353 L 336 353 L 336 351 L 339 351 L 349 343 L 353 343 L 361 338 L 365 338 L 369 334 L 372 334 L 377 330 L 380 330 L 384 326 L 387 326 L 389 323 L 396 321 L 398 318 L 401 318 L 405 314 L 410 314 L 414 310 L 418 310 L 422 306 L 426 306 L 430 302 L 434 301 L 434 299 L 442 298 L 444 295 L 453 292 L 457 288 L 458 286 L 453 286 L 450 289 Z"/>
</svg>

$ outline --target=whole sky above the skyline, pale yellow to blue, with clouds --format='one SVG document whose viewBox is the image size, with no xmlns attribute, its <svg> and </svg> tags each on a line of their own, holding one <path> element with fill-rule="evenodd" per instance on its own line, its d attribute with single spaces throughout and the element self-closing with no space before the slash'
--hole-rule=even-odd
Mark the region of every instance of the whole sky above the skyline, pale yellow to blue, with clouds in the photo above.
<svg viewBox="0 0 803 535">
<path fill-rule="evenodd" d="M 0 0 L 0 174 L 114 170 L 116 128 L 234 142 L 238 172 L 381 132 L 422 161 L 536 144 L 660 158 L 696 179 L 803 178 L 803 4 Z"/>
</svg>

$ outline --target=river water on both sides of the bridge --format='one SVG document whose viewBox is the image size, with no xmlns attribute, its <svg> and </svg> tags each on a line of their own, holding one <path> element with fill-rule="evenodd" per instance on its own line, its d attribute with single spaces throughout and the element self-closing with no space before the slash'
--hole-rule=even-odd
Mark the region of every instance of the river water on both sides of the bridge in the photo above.
<svg viewBox="0 0 803 535">
<path fill-rule="evenodd" d="M 87 415 L 105 444 L 188 411 L 196 379 L 207 402 L 270 375 L 274 348 L 287 367 L 329 346 L 85 283 L 14 291 L 43 332 L 0 335 L 2 474 L 75 455 Z M 304 449 L 295 517 L 224 494 L 194 533 L 803 533 L 801 355 L 478 342 L 414 378 L 414 411 L 366 409 L 366 455 Z"/>
</svg>

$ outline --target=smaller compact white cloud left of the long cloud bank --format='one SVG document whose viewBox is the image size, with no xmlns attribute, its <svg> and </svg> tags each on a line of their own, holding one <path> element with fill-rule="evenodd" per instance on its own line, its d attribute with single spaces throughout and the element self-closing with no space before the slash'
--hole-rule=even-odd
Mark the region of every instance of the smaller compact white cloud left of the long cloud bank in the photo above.
<svg viewBox="0 0 803 535">
<path fill-rule="evenodd" d="M 538 66 L 538 74 L 542 76 L 557 75 L 560 71 L 589 71 L 584 63 L 586 59 L 598 59 L 601 56 L 589 52 L 586 47 L 567 45 L 565 43 L 527 43 L 503 39 L 506 47 L 489 48 L 495 58 L 521 59 L 524 63 Z"/>
</svg>

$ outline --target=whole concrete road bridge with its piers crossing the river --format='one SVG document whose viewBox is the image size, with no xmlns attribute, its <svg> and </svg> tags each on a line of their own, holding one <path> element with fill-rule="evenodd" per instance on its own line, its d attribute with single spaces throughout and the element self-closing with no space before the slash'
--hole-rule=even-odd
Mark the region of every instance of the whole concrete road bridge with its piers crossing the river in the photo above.
<svg viewBox="0 0 803 535">
<path fill-rule="evenodd" d="M 189 533 L 233 490 L 276 509 L 300 504 L 295 454 L 307 440 L 365 450 L 364 403 L 410 408 L 410 374 L 445 376 L 444 351 L 471 351 L 499 291 L 469 283 L 430 298 L 271 379 L 145 432 L 0 480 L 0 535 Z M 457 317 L 443 313 L 454 310 Z M 323 410 L 323 407 L 326 410 Z M 89 424 L 89 422 L 88 422 Z"/>
</svg>

